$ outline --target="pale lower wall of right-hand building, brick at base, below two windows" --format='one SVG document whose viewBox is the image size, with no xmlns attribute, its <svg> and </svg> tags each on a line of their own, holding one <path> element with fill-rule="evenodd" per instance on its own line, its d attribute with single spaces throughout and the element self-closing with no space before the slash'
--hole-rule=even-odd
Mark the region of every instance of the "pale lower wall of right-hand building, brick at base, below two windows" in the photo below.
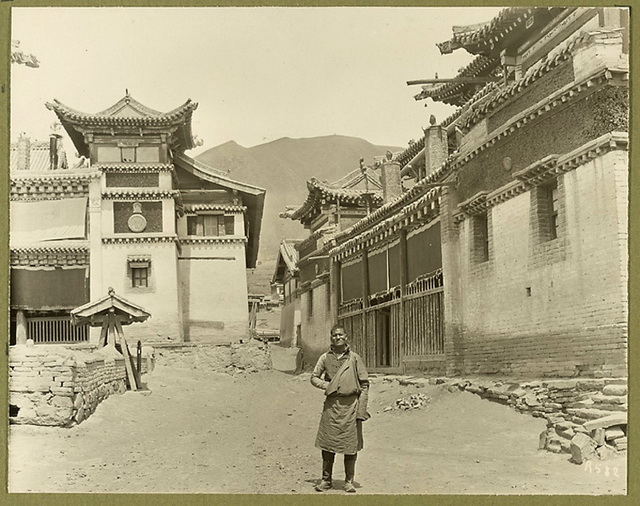
<svg viewBox="0 0 640 506">
<path fill-rule="evenodd" d="M 552 241 L 531 232 L 530 192 L 490 208 L 487 262 L 459 224 L 462 374 L 626 375 L 626 173 L 612 151 L 559 176 Z"/>
</svg>

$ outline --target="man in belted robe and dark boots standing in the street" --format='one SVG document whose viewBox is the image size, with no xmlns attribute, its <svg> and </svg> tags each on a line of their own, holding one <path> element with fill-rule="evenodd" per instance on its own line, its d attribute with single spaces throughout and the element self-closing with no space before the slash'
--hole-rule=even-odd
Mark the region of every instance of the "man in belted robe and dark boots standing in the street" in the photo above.
<svg viewBox="0 0 640 506">
<path fill-rule="evenodd" d="M 318 492 L 332 486 L 331 473 L 336 453 L 344 454 L 344 489 L 355 492 L 353 484 L 358 451 L 362 450 L 362 422 L 367 413 L 369 377 L 362 358 L 349 349 L 344 328 L 331 329 L 331 348 L 318 359 L 311 384 L 324 390 L 325 401 L 316 437 L 322 450 L 322 481 Z"/>
</svg>

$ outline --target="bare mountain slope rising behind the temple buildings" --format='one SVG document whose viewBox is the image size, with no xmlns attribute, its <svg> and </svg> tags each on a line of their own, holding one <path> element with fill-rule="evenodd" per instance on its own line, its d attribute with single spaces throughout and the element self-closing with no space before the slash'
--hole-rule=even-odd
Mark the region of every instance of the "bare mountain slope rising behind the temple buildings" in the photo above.
<svg viewBox="0 0 640 506">
<path fill-rule="evenodd" d="M 267 190 L 259 267 L 249 278 L 250 291 L 268 293 L 266 280 L 273 274 L 278 246 L 283 237 L 295 239 L 306 236 L 298 222 L 279 218 L 278 214 L 287 205 L 304 202 L 309 179 L 315 177 L 333 182 L 357 169 L 361 157 L 368 165 L 373 162 L 374 156 L 384 155 L 387 150 L 400 149 L 375 146 L 357 137 L 330 135 L 306 139 L 283 137 L 251 148 L 229 141 L 196 156 L 200 162 L 226 171 L 232 179 Z"/>
</svg>

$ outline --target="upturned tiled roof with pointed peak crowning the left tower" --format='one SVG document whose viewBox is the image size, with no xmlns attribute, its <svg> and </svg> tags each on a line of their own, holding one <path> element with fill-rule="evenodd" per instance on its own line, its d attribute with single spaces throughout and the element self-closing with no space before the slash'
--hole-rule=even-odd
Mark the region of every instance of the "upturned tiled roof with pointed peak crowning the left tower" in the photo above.
<svg viewBox="0 0 640 506">
<path fill-rule="evenodd" d="M 190 99 L 181 106 L 164 113 L 141 104 L 129 93 L 111 107 L 97 113 L 78 111 L 56 99 L 53 102 L 47 102 L 45 106 L 56 113 L 82 156 L 89 156 L 89 148 L 84 139 L 85 132 L 111 131 L 113 128 L 162 130 L 177 127 L 172 138 L 174 147 L 178 151 L 184 151 L 195 146 L 191 133 L 191 116 L 198 104 Z"/>
</svg>

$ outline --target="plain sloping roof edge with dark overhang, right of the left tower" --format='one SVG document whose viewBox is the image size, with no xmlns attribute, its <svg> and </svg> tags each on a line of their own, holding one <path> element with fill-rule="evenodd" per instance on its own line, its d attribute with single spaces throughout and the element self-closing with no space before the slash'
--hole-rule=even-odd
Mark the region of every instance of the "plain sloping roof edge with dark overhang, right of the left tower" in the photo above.
<svg viewBox="0 0 640 506">
<path fill-rule="evenodd" d="M 264 199 L 266 190 L 258 186 L 234 181 L 222 175 L 219 170 L 209 167 L 202 162 L 194 160 L 184 153 L 174 156 L 174 164 L 189 174 L 203 181 L 208 181 L 225 189 L 235 190 L 242 196 L 242 203 L 246 206 L 246 216 L 249 221 L 247 242 L 247 267 L 254 268 L 258 260 L 258 247 L 260 245 L 260 229 L 262 227 L 262 213 L 264 211 Z"/>
</svg>

